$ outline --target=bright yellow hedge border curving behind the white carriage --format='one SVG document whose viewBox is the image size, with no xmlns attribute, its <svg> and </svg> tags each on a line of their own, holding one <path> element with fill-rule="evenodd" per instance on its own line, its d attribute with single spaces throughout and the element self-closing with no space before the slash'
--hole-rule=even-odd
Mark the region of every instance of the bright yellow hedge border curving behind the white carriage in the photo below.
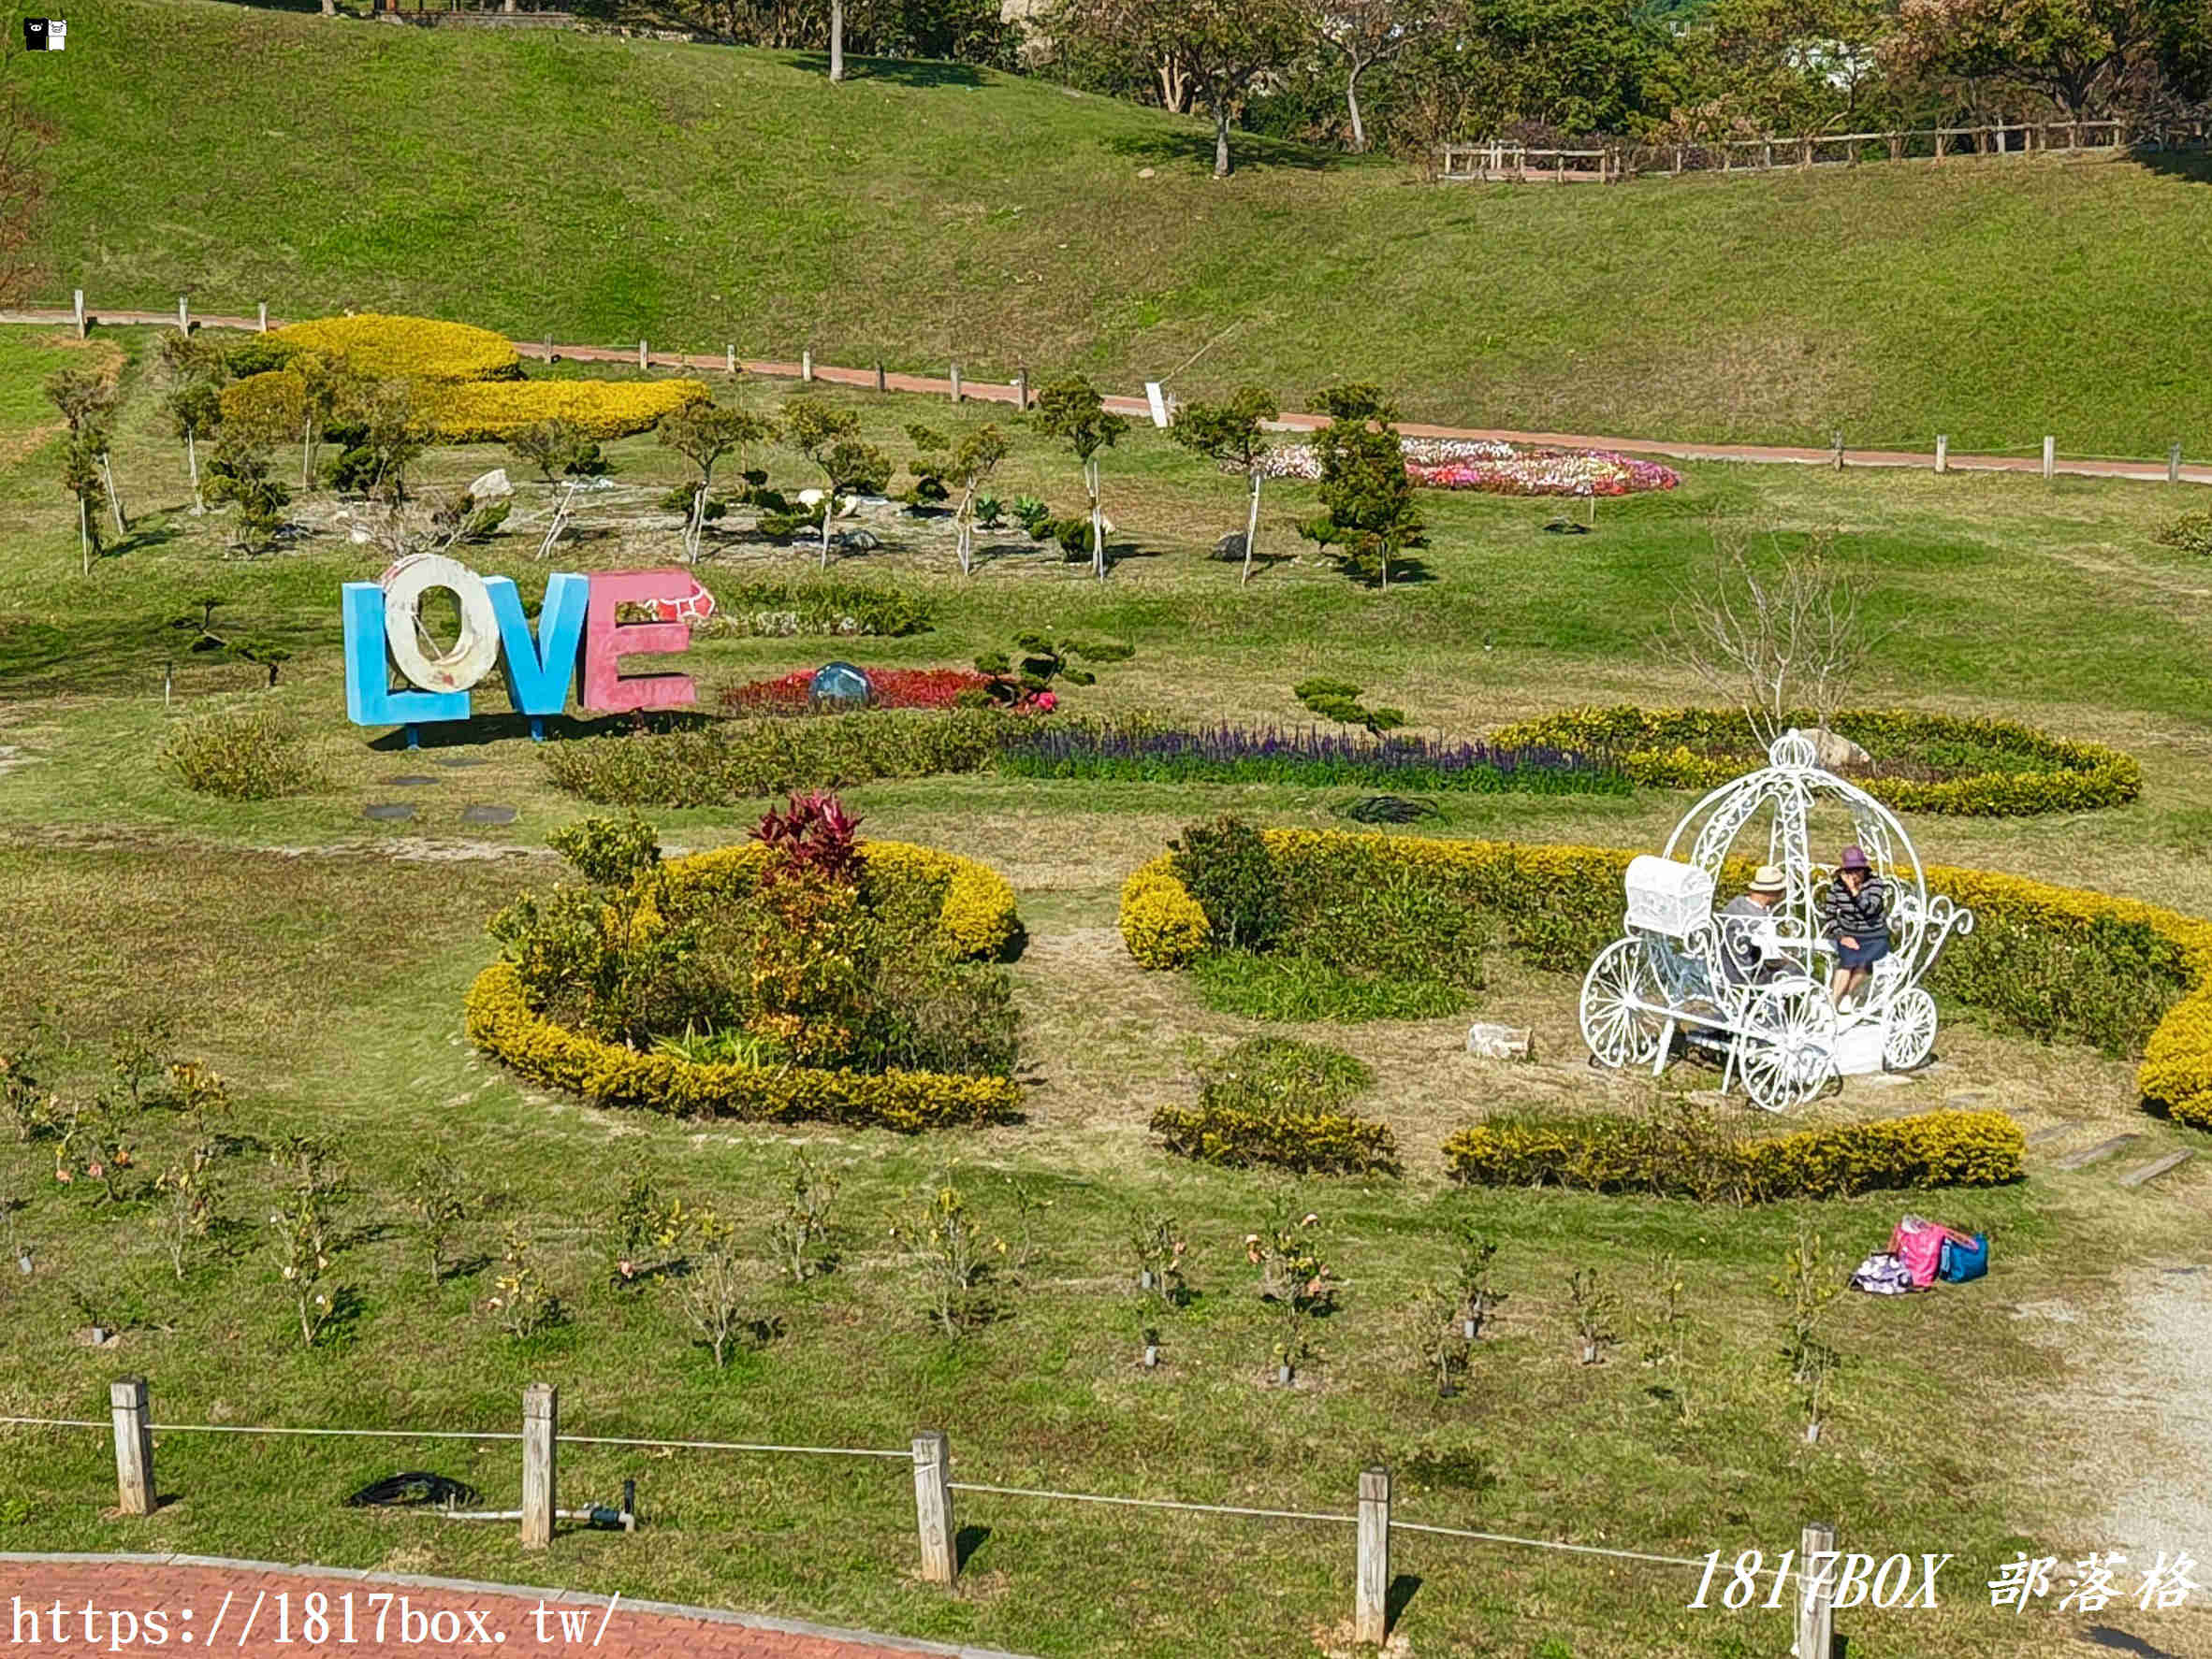
<svg viewBox="0 0 2212 1659">
<path fill-rule="evenodd" d="M 1411 865 L 1464 876 L 1504 878 L 1540 891 L 1586 896 L 1593 889 L 1621 891 L 1632 852 L 1615 847 L 1520 845 L 1513 841 L 1440 841 L 1429 836 L 1347 834 L 1343 830 L 1265 830 L 1276 854 L 1365 847 Z M 1732 863 L 1728 880 L 1741 883 L 1747 863 Z M 2190 964 L 2190 991 L 2166 1011 L 2166 1020 L 2143 1046 L 2137 1088 L 2177 1121 L 2212 1130 L 2212 922 L 2112 898 L 2081 887 L 2055 887 L 1991 869 L 1929 865 L 1931 891 L 1949 894 L 1984 922 L 2079 938 L 2095 920 L 2139 922 L 2170 940 Z M 1166 925 L 1172 918 L 1175 925 Z M 1206 949 L 1206 914 L 1190 889 L 1175 878 L 1172 854 L 1141 865 L 1121 887 L 1121 938 L 1128 953 L 1148 969 L 1177 969 Z M 1962 947 L 1964 949 L 1964 947 Z"/>
</svg>

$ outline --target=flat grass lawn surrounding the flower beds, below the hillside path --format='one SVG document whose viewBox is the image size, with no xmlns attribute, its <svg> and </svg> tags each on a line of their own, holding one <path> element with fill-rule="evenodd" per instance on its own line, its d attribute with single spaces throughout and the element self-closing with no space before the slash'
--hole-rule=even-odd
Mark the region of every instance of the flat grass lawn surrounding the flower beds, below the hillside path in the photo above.
<svg viewBox="0 0 2212 1659">
<path fill-rule="evenodd" d="M 164 13 L 166 15 L 166 13 Z M 181 13 L 179 13 L 181 15 Z M 210 13 L 215 15 L 215 13 Z M 272 24 L 290 24 L 272 18 Z M 363 33 L 363 31 L 356 31 Z M 414 31 L 378 31 L 414 42 Z M 573 51 L 562 42 L 553 51 Z M 414 49 L 407 44 L 405 49 Z M 717 60 L 726 62 L 726 60 Z M 737 60 L 745 62 L 745 60 Z M 1022 91 L 1022 88 L 1018 88 Z M 1037 93 L 1026 88 L 1024 95 Z M 1057 95 L 1055 95 L 1057 97 Z M 1219 1013 L 1181 975 L 1146 975 L 1113 933 L 1121 876 L 1179 825 L 1237 810 L 1267 823 L 1334 823 L 1345 792 L 1279 785 L 1033 783 L 922 779 L 852 792 L 867 834 L 958 847 L 1020 891 L 1029 947 L 1013 964 L 1024 1011 L 1024 1121 L 896 1137 L 801 1126 L 681 1124 L 586 1110 L 518 1086 L 469 1053 L 458 998 L 489 958 L 484 918 L 553 878 L 544 834 L 584 807 L 553 792 L 520 737 L 405 759 L 341 719 L 336 584 L 376 573 L 327 493 L 296 507 L 314 535 L 246 560 L 223 555 L 223 520 L 192 518 L 177 447 L 153 431 L 142 363 L 128 354 L 117 482 L 135 538 L 75 575 L 75 538 L 53 482 L 55 445 L 0 467 L 0 984 L 4 1013 L 53 1000 L 86 1042 L 69 1062 L 86 1086 L 111 1029 L 166 1013 L 175 1046 L 234 1079 L 234 1135 L 288 1130 L 334 1141 L 349 1166 L 334 1283 L 352 1292 L 336 1336 L 303 1349 L 254 1217 L 272 1177 L 252 1144 L 226 1161 L 232 1228 L 201 1243 L 179 1281 L 133 1197 L 97 1203 L 51 1181 L 51 1148 L 0 1141 L 0 1194 L 38 1245 L 35 1274 L 11 1281 L 0 1318 L 0 1411 L 100 1416 L 119 1371 L 153 1378 L 177 1422 L 352 1427 L 513 1427 L 533 1378 L 564 1389 L 575 1433 L 699 1436 L 896 1449 L 918 1427 L 951 1436 L 960 1480 L 1221 1504 L 1345 1513 L 1363 1462 L 1398 1471 L 1400 1517 L 1559 1537 L 1661 1555 L 1732 1555 L 1796 1542 L 1834 1520 L 1845 1546 L 1953 1551 L 1936 1613 L 1843 1619 L 1854 1652 L 2000 1659 L 2059 1652 L 2079 1621 L 1993 1615 L 1982 1579 L 2017 1548 L 2073 1559 L 2110 1544 L 2117 1493 L 2146 1460 L 2185 1449 L 2150 1429 L 2112 1429 L 2135 1274 L 2201 1256 L 2201 1164 L 2166 1183 L 2119 1190 L 2115 1166 L 2062 1172 L 2031 1150 L 2031 1179 L 1997 1192 L 1889 1194 L 1763 1210 L 1562 1192 L 1460 1192 L 1438 1144 L 1506 1108 L 1637 1108 L 1646 1086 L 1582 1066 L 1575 984 L 1500 962 L 1473 1018 L 1528 1024 L 1537 1062 L 1498 1068 L 1464 1055 L 1467 1015 L 1303 1026 L 1376 1071 L 1363 1110 L 1398 1133 L 1402 1181 L 1285 1183 L 1203 1170 L 1152 1150 L 1146 1119 L 1188 1099 L 1197 1064 L 1263 1022 Z M 11 341 L 29 358 L 38 336 Z M 774 403 L 781 389 L 739 385 Z M 905 456 L 902 422 L 960 425 L 989 411 L 918 400 L 852 405 L 872 438 Z M 657 493 L 677 467 L 650 440 L 613 447 L 617 491 Z M 422 487 L 453 487 L 509 460 L 498 449 L 436 451 Z M 805 482 L 790 456 L 779 484 Z M 546 568 L 622 568 L 675 555 L 675 520 L 584 515 L 584 538 L 535 564 L 526 518 L 549 489 L 524 478 L 511 535 L 469 562 L 524 588 Z M 891 524 L 885 546 L 838 564 L 838 580 L 925 593 L 931 633 L 905 639 L 714 639 L 692 653 L 706 695 L 843 655 L 860 664 L 960 664 L 1020 626 L 1115 635 L 1137 646 L 1073 706 L 1161 708 L 1188 717 L 1294 719 L 1307 672 L 1365 684 L 1420 730 L 1473 734 L 1577 699 L 1686 699 L 1652 666 L 1648 637 L 1668 582 L 1708 542 L 1708 520 L 1783 533 L 1838 526 L 1867 555 L 1869 593 L 1907 626 L 1869 675 L 1865 701 L 2006 712 L 2062 734 L 2115 741 L 2146 763 L 2143 801 L 2068 818 L 1916 818 L 1922 856 L 2212 907 L 2212 743 L 2201 717 L 2212 586 L 2148 531 L 2181 511 L 2179 491 L 2066 480 L 1849 476 L 1692 469 L 1672 495 L 1604 502 L 1597 531 L 1546 535 L 1546 502 L 1427 493 L 1425 582 L 1363 593 L 1303 551 L 1290 520 L 1310 493 L 1270 487 L 1265 542 L 1283 555 L 1250 588 L 1203 557 L 1241 524 L 1237 480 L 1208 476 L 1137 431 L 1110 456 L 1117 566 L 1106 584 L 1057 553 L 1006 553 L 962 584 L 927 524 Z M 1073 511 L 1073 465 L 1024 429 L 1000 493 L 1035 491 Z M 1020 538 L 1006 538 L 1013 546 Z M 989 544 L 989 538 L 987 538 Z M 812 555 L 737 529 L 710 538 L 710 588 L 812 571 Z M 281 684 L 177 650 L 168 624 L 219 593 L 217 628 L 288 644 Z M 164 710 L 177 657 L 179 708 Z M 493 692 L 482 706 L 498 703 Z M 299 714 L 323 745 L 330 787 L 290 801 L 195 796 L 153 765 L 164 723 L 215 703 Z M 11 754 L 13 750 L 13 754 Z M 442 772 L 425 761 L 484 765 Z M 422 768 L 440 783 L 392 790 Z M 416 825 L 361 807 L 411 799 Z M 460 823 L 467 803 L 520 807 L 507 830 Z M 741 838 L 763 803 L 661 814 L 670 845 Z M 1686 796 L 1444 796 L 1440 834 L 1655 847 Z M 0 1026 L 4 1031 L 4 1026 Z M 2143 1133 L 2150 1150 L 2205 1137 L 2148 1119 L 2132 1066 L 1993 1035 L 1951 1018 L 1942 1073 L 1847 1093 L 1807 1121 L 1933 1108 L 1960 1088 L 1991 1091 L 2028 1124 Z M 1677 1068 L 1666 1088 L 1712 1077 Z M 175 1155 L 181 1126 L 142 1135 L 135 1188 Z M 493 1197 L 465 1265 L 436 1290 L 398 1194 L 409 1164 L 442 1137 Z M 843 1259 L 805 1285 L 759 1267 L 763 1336 L 723 1371 L 690 1343 L 670 1285 L 608 1281 L 604 1212 L 635 1159 L 668 1194 L 714 1203 L 763 1230 L 794 1146 L 845 1177 Z M 2146 1150 L 2148 1157 L 2148 1150 Z M 2132 1157 L 2128 1161 L 2135 1161 Z M 1000 1318 L 960 1343 L 929 1332 L 885 1212 L 956 1181 L 1009 1241 Z M 1276 1194 L 1314 1210 L 1347 1281 L 1321 1329 L 1323 1358 L 1301 1387 L 1267 1385 L 1270 1327 L 1241 1239 Z M 1024 1206 L 1033 1208 L 1024 1223 Z M 1847 1298 L 1836 1343 L 1849 1356 L 1836 1416 L 1818 1444 L 1798 1436 L 1776 1358 L 1781 1307 L 1770 1283 L 1801 1228 L 1847 1267 L 1896 1217 L 1936 1210 L 1997 1239 L 1984 1285 L 1905 1303 Z M 1179 1217 L 1194 1245 L 1199 1298 L 1146 1316 L 1128 1290 L 1130 1219 Z M 1438 1398 L 1413 1352 L 1416 1294 L 1447 1265 L 1449 1225 L 1473 1219 L 1502 1241 L 1511 1301 L 1471 1387 Z M 526 1223 L 568 1307 L 555 1329 L 518 1340 L 484 1307 L 502 1230 Z M 1655 1396 L 1639 1365 L 1657 1305 L 1652 1263 L 1672 1254 L 1694 1305 L 1692 1418 Z M 1849 1259 L 1849 1261 L 1843 1261 Z M 1621 1345 L 1575 1363 L 1566 1279 L 1597 1267 L 1624 1301 Z M 2188 1281 L 2197 1283 L 2197 1281 Z M 124 1323 L 113 1352 L 80 1347 L 73 1292 Z M 1161 1327 L 1166 1369 L 1137 1365 L 1139 1329 Z M 2095 1340 L 2088 1332 L 2097 1332 Z M 2139 1420 L 2135 1420 L 2139 1422 Z M 1940 1425 L 1940 1431 L 1931 1429 Z M 2024 1429 L 2022 1425 L 2033 1425 Z M 526 1562 L 509 1528 L 341 1509 L 403 1467 L 473 1480 L 487 1506 L 515 1491 L 511 1447 L 442 1442 L 259 1442 L 170 1436 L 146 1524 L 102 1520 L 111 1460 L 100 1436 L 0 1431 L 7 1548 L 175 1548 L 259 1559 L 544 1577 L 626 1595 L 717 1601 L 975 1641 L 1040 1655 L 1285 1655 L 1318 1650 L 1349 1613 L 1349 1528 L 1177 1517 L 1015 1498 L 960 1498 L 971 1535 L 956 1595 L 914 1582 L 911 1486 L 900 1467 L 845 1460 L 564 1453 L 566 1491 L 606 1500 L 639 1480 L 648 1524 L 633 1540 L 573 1535 L 557 1568 Z M 2185 1540 L 2183 1540 L 2185 1542 Z M 1402 1535 L 1394 1568 L 1418 1577 L 1400 1628 L 1418 1655 L 1763 1655 L 1785 1615 L 1690 1613 L 1694 1573 Z M 2126 1628 L 2185 1650 L 2168 1615 Z M 1551 1644 L 1551 1646 L 1546 1646 Z"/>
</svg>

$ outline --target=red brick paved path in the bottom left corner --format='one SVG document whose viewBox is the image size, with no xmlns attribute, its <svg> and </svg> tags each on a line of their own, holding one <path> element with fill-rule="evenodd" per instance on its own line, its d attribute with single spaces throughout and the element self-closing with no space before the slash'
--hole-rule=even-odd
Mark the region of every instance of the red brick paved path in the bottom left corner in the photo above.
<svg viewBox="0 0 2212 1659">
<path fill-rule="evenodd" d="M 310 1606 L 307 1597 L 323 1597 Z M 285 1597 L 285 1599 L 281 1599 Z M 352 1641 L 345 1641 L 352 1597 Z M 60 1604 L 60 1628 L 55 1628 Z M 321 1610 L 327 1630 L 310 1626 Z M 91 1619 L 91 1626 L 86 1626 Z M 378 1619 L 383 1632 L 378 1639 Z M 290 1637 L 290 1641 L 279 1641 Z M 462 1579 L 181 1555 L 0 1555 L 0 1655 L 429 1659 L 504 1648 L 544 1659 L 1013 1659 L 659 1601 Z"/>
</svg>

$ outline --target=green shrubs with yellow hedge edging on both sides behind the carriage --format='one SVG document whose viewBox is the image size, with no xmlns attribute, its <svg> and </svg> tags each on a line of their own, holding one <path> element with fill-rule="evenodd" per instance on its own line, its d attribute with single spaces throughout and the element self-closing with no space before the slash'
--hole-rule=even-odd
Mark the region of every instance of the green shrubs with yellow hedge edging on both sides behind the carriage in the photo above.
<svg viewBox="0 0 2212 1659">
<path fill-rule="evenodd" d="M 1495 918 L 1506 945 L 1535 967 L 1582 973 L 1621 929 L 1630 852 L 1511 841 L 1431 841 L 1340 830 L 1265 830 L 1296 914 L 1310 891 L 1371 880 L 1398 863 L 1455 902 Z M 1206 951 L 1197 900 L 1175 876 L 1175 854 L 1141 865 L 1121 887 L 1121 938 L 1148 969 L 1188 967 Z M 2035 1037 L 2135 1053 L 2137 1086 L 2154 1108 L 2212 1130 L 2212 922 L 2079 887 L 1986 869 L 1929 865 L 1931 891 L 1973 909 L 1973 933 L 1944 951 L 1929 984 Z M 1723 878 L 1741 885 L 1747 863 Z M 1203 914 L 1203 911 L 1201 911 Z M 1975 956 L 1989 947 L 1982 962 Z"/>
</svg>

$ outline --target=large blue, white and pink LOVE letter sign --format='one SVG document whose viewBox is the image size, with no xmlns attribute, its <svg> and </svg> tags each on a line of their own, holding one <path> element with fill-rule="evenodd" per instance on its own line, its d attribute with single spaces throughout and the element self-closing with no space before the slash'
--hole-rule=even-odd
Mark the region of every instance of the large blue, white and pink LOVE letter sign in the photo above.
<svg viewBox="0 0 2212 1659">
<path fill-rule="evenodd" d="M 436 650 L 422 628 L 422 597 L 445 588 L 460 606 L 460 637 Z M 690 675 L 624 675 L 624 657 L 690 648 L 690 624 L 712 615 L 714 597 L 688 571 L 560 571 L 546 577 L 538 628 L 504 575 L 478 575 L 442 553 L 400 560 L 376 582 L 347 582 L 345 714 L 354 726 L 425 726 L 469 719 L 469 692 L 493 668 L 507 701 L 544 734 L 544 717 L 568 706 L 582 666 L 582 708 L 626 714 L 697 701 Z M 653 622 L 622 622 L 622 608 Z M 405 686 L 394 686 L 392 675 Z"/>
</svg>

